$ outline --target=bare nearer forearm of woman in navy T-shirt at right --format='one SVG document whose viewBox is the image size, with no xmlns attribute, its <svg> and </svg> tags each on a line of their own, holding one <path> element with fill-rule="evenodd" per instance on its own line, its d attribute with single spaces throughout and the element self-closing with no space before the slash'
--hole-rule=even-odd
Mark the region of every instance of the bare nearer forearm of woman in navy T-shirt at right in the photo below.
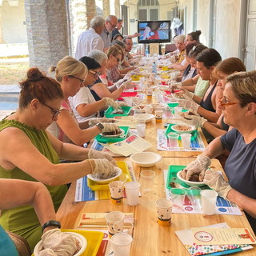
<svg viewBox="0 0 256 256">
<path fill-rule="evenodd" d="M 252 217 L 256 218 L 256 200 L 254 198 L 249 198 L 234 189 L 230 190 L 227 194 L 227 198 L 230 202 L 234 202 L 243 210 L 246 210 Z"/>
</svg>

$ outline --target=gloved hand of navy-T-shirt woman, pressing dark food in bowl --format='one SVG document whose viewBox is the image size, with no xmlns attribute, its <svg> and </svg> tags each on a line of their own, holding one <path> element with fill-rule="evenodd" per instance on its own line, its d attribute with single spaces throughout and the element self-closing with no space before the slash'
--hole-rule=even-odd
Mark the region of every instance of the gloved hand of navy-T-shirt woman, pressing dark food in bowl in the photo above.
<svg viewBox="0 0 256 256">
<path fill-rule="evenodd" d="M 200 174 L 199 181 L 202 182 L 204 174 L 210 166 L 210 163 L 210 158 L 206 155 L 199 154 L 193 162 L 190 162 L 186 168 L 182 170 L 181 176 L 188 181 L 192 174 Z"/>
</svg>

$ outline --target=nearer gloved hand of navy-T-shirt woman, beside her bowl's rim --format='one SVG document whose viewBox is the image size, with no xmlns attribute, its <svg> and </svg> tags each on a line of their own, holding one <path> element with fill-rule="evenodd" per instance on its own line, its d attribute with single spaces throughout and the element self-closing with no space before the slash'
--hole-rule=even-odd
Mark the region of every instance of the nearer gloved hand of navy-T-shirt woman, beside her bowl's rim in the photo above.
<svg viewBox="0 0 256 256">
<path fill-rule="evenodd" d="M 216 170 L 206 170 L 203 182 L 205 182 L 207 186 L 210 186 L 211 189 L 215 190 L 218 195 L 224 199 L 226 199 L 227 194 L 232 189 L 230 184 L 225 181 L 222 174 Z"/>
</svg>

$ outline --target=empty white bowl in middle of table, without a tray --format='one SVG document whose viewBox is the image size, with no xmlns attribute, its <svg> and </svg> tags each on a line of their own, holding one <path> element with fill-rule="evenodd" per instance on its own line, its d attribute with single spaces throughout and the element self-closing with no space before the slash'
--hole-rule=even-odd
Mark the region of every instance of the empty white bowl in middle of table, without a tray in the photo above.
<svg viewBox="0 0 256 256">
<path fill-rule="evenodd" d="M 154 152 L 135 153 L 130 156 L 130 161 L 135 162 L 138 166 L 142 167 L 154 166 L 161 159 L 162 156 Z"/>
</svg>

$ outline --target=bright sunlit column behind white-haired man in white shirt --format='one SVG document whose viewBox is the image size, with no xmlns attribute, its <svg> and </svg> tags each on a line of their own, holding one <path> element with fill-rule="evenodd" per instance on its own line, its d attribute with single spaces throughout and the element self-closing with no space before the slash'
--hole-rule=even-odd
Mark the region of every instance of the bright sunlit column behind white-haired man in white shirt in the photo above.
<svg viewBox="0 0 256 256">
<path fill-rule="evenodd" d="M 90 20 L 96 14 L 95 0 L 71 0 L 70 1 L 70 26 L 72 35 L 72 53 L 79 34 L 90 28 Z"/>
</svg>

